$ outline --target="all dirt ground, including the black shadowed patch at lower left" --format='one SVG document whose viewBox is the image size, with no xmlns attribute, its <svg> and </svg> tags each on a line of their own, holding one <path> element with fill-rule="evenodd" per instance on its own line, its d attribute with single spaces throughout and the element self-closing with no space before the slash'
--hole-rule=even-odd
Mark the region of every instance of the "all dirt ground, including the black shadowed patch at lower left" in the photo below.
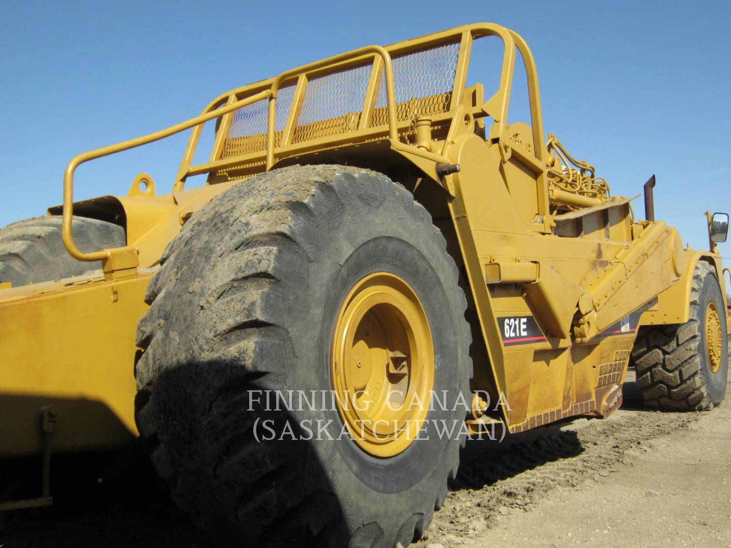
<svg viewBox="0 0 731 548">
<path fill-rule="evenodd" d="M 56 506 L 0 514 L 0 548 L 207 546 L 142 457 L 57 466 Z M 642 408 L 632 382 L 609 419 L 469 441 L 447 501 L 415 544 L 686 545 L 731 547 L 731 398 L 710 413 L 660 413 Z"/>
</svg>

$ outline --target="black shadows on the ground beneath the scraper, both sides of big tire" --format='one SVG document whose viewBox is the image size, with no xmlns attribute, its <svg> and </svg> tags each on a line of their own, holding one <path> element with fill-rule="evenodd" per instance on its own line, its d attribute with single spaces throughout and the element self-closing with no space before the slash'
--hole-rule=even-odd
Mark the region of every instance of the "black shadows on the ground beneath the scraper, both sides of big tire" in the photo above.
<svg viewBox="0 0 731 548">
<path fill-rule="evenodd" d="M 623 408 L 641 409 L 633 382 Z M 576 419 L 573 419 L 576 420 Z M 546 463 L 585 451 L 572 419 L 511 435 L 503 442 L 470 440 L 452 491 L 479 490 Z M 0 462 L 0 498 L 37 496 L 38 460 Z M 189 517 L 170 501 L 144 448 L 128 452 L 66 455 L 53 459 L 50 509 L 0 514 L 0 546 L 207 547 Z M 510 493 L 505 494 L 510 497 Z"/>
</svg>

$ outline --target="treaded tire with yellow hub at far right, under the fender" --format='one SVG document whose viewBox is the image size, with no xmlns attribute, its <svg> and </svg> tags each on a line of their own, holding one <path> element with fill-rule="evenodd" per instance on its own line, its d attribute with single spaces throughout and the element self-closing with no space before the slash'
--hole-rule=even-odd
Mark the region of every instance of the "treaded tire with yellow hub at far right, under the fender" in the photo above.
<svg viewBox="0 0 731 548">
<path fill-rule="evenodd" d="M 642 327 L 637 335 L 632 361 L 646 406 L 708 411 L 726 394 L 726 307 L 716 270 L 697 262 L 692 283 L 686 323 Z"/>
</svg>

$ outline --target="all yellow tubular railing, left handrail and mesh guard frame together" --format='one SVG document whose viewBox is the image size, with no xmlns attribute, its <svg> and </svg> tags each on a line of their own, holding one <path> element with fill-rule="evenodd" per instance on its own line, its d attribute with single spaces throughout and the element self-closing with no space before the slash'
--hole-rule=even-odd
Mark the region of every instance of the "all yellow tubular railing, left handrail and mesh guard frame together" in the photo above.
<svg viewBox="0 0 731 548">
<path fill-rule="evenodd" d="M 193 128 L 188 144 L 186 146 L 185 153 L 183 153 L 183 159 L 181 161 L 178 173 L 175 178 L 173 185 L 173 191 L 181 191 L 184 186 L 186 178 L 192 175 L 198 175 L 205 172 L 213 172 L 220 170 L 230 165 L 240 163 L 240 161 L 265 161 L 265 170 L 271 170 L 274 162 L 276 161 L 275 148 L 282 149 L 282 153 L 287 156 L 291 153 L 295 153 L 300 150 L 303 144 L 300 143 L 292 145 L 291 143 L 285 143 L 283 145 L 276 145 L 276 100 L 279 88 L 282 83 L 291 82 L 292 80 L 302 80 L 310 75 L 322 74 L 323 72 L 338 72 L 357 64 L 365 64 L 369 59 L 372 58 L 373 66 L 371 69 L 371 82 L 369 85 L 366 103 L 370 103 L 372 110 L 374 102 L 376 102 L 376 89 L 378 79 L 376 72 L 384 75 L 385 77 L 385 91 L 386 91 L 386 113 L 387 113 L 387 132 L 386 124 L 383 123 L 381 128 L 368 127 L 368 123 L 361 123 L 359 129 L 341 135 L 340 140 L 347 137 L 349 142 L 357 141 L 358 138 L 373 138 L 373 137 L 388 137 L 394 144 L 398 143 L 398 132 L 401 126 L 404 126 L 406 121 L 399 121 L 396 111 L 396 100 L 395 100 L 395 84 L 393 74 L 393 61 L 392 56 L 407 55 L 412 52 L 424 49 L 425 47 L 436 47 L 437 45 L 443 45 L 452 43 L 455 40 L 461 43 L 460 55 L 458 59 L 458 66 L 456 67 L 455 81 L 453 83 L 453 94 L 450 102 L 448 112 L 444 115 L 455 115 L 458 111 L 458 105 L 461 103 L 464 88 L 466 85 L 466 71 L 469 66 L 469 53 L 473 39 L 496 36 L 499 37 L 504 44 L 504 55 L 503 55 L 503 66 L 500 75 L 499 89 L 496 93 L 480 107 L 478 107 L 478 113 L 481 115 L 490 115 L 493 117 L 495 123 L 491 129 L 490 139 L 496 142 L 501 138 L 501 134 L 504 130 L 507 119 L 507 110 L 510 103 L 510 88 L 512 83 L 513 68 L 515 64 L 515 50 L 516 47 L 523 57 L 523 61 L 526 65 L 527 77 L 529 81 L 529 96 L 531 104 L 531 122 L 533 126 L 534 142 L 536 143 L 534 158 L 537 160 L 537 164 L 540 164 L 542 157 L 544 156 L 544 140 L 542 134 L 542 123 L 540 115 L 540 99 L 537 84 L 537 74 L 535 69 L 534 58 L 531 55 L 529 47 L 526 42 L 512 31 L 494 23 L 477 23 L 474 25 L 467 25 L 458 28 L 452 28 L 449 31 L 442 31 L 435 34 L 429 34 L 416 39 L 406 40 L 404 42 L 398 42 L 387 47 L 378 45 L 371 45 L 366 47 L 360 47 L 357 50 L 352 50 L 347 53 L 341 53 L 337 56 L 322 59 L 322 61 L 316 61 L 314 63 L 300 66 L 296 69 L 291 69 L 286 72 L 282 72 L 279 76 L 274 78 L 263 80 L 258 83 L 244 85 L 239 88 L 227 91 L 224 94 L 216 97 L 207 107 L 203 110 L 202 114 L 196 118 L 191 118 L 188 121 L 184 121 L 170 126 L 162 131 L 151 133 L 143 137 L 137 137 L 136 139 L 120 142 L 116 145 L 110 145 L 105 148 L 99 148 L 95 151 L 86 152 L 75 156 L 72 159 L 64 172 L 64 205 L 63 205 L 63 224 L 62 224 L 62 235 L 64 240 L 64 246 L 66 246 L 69 254 L 75 259 L 80 261 L 102 261 L 105 265 L 105 272 L 111 272 L 115 270 L 129 270 L 139 264 L 137 261 L 137 250 L 132 246 L 125 246 L 121 248 L 105 249 L 102 251 L 94 251 L 91 253 L 83 253 L 80 251 L 74 243 L 72 237 L 72 216 L 73 216 L 73 179 L 75 170 L 80 164 L 86 161 L 102 158 L 102 156 L 108 156 L 110 154 L 118 153 L 121 151 L 129 150 L 140 145 L 145 145 L 150 142 L 170 137 L 170 135 L 183 132 L 186 129 Z M 299 83 L 298 83 L 299 87 Z M 243 98 L 241 98 L 243 96 Z M 246 107 L 251 103 L 268 99 L 268 111 L 267 111 L 267 122 L 266 122 L 266 150 L 249 153 L 243 156 L 235 156 L 226 159 L 215 158 L 213 155 L 211 161 L 196 166 L 192 165 L 193 156 L 197 148 L 198 141 L 200 140 L 200 134 L 202 132 L 203 124 L 207 121 L 211 121 L 214 118 L 232 113 L 241 107 Z M 363 112 L 366 112 L 367 107 L 364 105 Z M 225 118 L 224 118 L 225 120 Z M 288 121 L 289 131 L 293 131 L 294 125 L 296 125 L 296 119 Z M 291 124 L 291 126 L 290 126 Z M 218 137 L 217 137 L 218 139 Z M 322 141 L 323 138 L 319 140 Z M 333 142 L 337 141 L 338 137 L 333 136 Z M 313 145 L 320 145 L 322 143 L 315 142 Z M 325 143 L 327 144 L 327 143 Z M 214 145 L 214 151 L 216 151 L 216 145 Z M 531 154 L 531 156 L 533 156 Z M 543 202 L 548 202 L 548 197 L 544 197 Z M 546 204 L 543 204 L 544 208 L 547 208 Z M 107 265 L 107 262 L 109 263 Z"/>
</svg>

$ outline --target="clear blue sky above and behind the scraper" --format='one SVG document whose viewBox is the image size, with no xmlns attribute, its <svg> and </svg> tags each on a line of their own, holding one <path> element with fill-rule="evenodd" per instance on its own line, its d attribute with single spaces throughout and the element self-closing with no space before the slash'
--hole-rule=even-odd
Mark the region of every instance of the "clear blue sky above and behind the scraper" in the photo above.
<svg viewBox="0 0 731 548">
<path fill-rule="evenodd" d="M 655 173 L 656 217 L 707 247 L 702 212 L 731 210 L 729 1 L 4 0 L 0 226 L 58 204 L 75 154 L 190 118 L 221 91 L 477 21 L 528 41 L 546 132 L 613 194 Z M 169 189 L 186 139 L 86 164 L 76 196 L 126 194 L 138 172 Z"/>
</svg>

